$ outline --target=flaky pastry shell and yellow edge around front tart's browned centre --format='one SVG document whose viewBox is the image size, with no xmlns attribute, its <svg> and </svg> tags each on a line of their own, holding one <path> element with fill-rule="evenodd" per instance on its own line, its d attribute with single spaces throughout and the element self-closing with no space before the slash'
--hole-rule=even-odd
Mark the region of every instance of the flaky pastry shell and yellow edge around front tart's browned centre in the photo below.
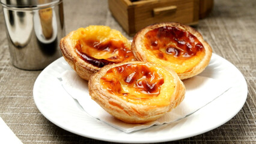
<svg viewBox="0 0 256 144">
<path fill-rule="evenodd" d="M 120 96 L 120 94 L 109 92 L 109 89 L 106 89 L 102 82 L 100 82 L 102 77 L 105 76 L 109 70 L 130 64 L 148 65 L 148 67 L 154 67 L 159 70 L 157 73 L 162 74 L 161 76 L 163 76 L 164 83 L 161 85 L 160 93 L 157 95 L 157 97 L 152 97 L 148 100 L 141 100 L 139 98 L 138 101 L 136 98 L 135 100 L 132 100 L 129 99 L 129 96 L 123 97 L 123 95 Z M 139 73 L 139 71 L 135 71 L 135 73 L 137 72 Z M 120 77 L 121 75 L 114 76 Z M 130 76 L 131 75 L 128 77 L 121 77 L 120 79 L 132 79 Z M 116 77 L 113 77 L 113 79 Z M 103 109 L 105 109 L 106 112 L 110 113 L 112 116 L 120 119 L 121 121 L 133 124 L 155 121 L 163 116 L 166 112 L 170 112 L 172 109 L 174 109 L 174 107 L 178 106 L 178 104 L 180 104 L 184 99 L 185 94 L 183 82 L 181 82 L 175 71 L 172 71 L 171 69 L 163 67 L 159 64 L 138 61 L 106 65 L 91 76 L 88 83 L 88 88 L 91 98 Z"/>
</svg>

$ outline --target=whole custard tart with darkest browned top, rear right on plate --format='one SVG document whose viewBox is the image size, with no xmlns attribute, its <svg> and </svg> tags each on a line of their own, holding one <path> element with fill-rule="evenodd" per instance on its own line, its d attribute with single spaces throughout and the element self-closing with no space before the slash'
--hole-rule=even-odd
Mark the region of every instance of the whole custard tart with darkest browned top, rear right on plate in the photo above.
<svg viewBox="0 0 256 144">
<path fill-rule="evenodd" d="M 180 79 L 201 73 L 212 56 L 212 48 L 198 31 L 171 22 L 141 29 L 133 38 L 132 51 L 140 61 L 172 68 Z"/>
</svg>

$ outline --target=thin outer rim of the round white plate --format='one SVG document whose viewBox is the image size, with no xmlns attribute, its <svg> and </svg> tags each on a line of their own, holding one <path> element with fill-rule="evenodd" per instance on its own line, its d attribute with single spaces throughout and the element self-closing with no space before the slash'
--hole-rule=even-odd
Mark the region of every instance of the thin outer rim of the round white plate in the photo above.
<svg viewBox="0 0 256 144">
<path fill-rule="evenodd" d="M 217 127 L 220 127 L 221 125 L 225 124 L 226 122 L 230 121 L 230 119 L 232 119 L 234 116 L 237 115 L 237 113 L 240 112 L 240 110 L 242 109 L 242 107 L 244 106 L 245 102 L 246 102 L 246 98 L 248 97 L 248 85 L 246 83 L 246 80 L 245 80 L 245 77 L 243 76 L 243 74 L 240 72 L 240 70 L 235 66 L 233 65 L 231 62 L 227 61 L 227 59 L 224 59 L 222 58 L 221 56 L 213 53 L 213 57 L 216 57 L 217 59 L 221 59 L 221 61 L 225 61 L 225 62 L 228 62 L 227 64 L 231 65 L 232 67 L 236 68 L 237 72 L 239 72 L 240 76 L 238 76 L 239 78 L 243 78 L 241 79 L 242 82 L 243 82 L 243 86 L 245 86 L 245 88 L 243 89 L 243 94 L 244 95 L 239 104 L 239 107 L 237 107 L 237 110 L 236 112 L 233 112 L 233 115 L 230 116 L 230 118 L 227 118 L 225 119 L 225 121 L 222 121 L 218 124 L 215 124 L 214 127 L 211 127 L 211 128 L 208 128 L 208 129 L 204 129 L 204 130 L 201 130 L 201 131 L 197 131 L 197 133 L 192 133 L 190 135 L 184 135 L 184 136 L 180 136 L 180 137 L 170 137 L 169 139 L 165 137 L 165 139 L 163 139 L 164 136 L 162 137 L 158 137 L 157 139 L 150 139 L 150 140 L 143 140 L 143 139 L 136 139 L 136 140 L 131 140 L 129 139 L 129 141 L 127 141 L 126 139 L 112 139 L 111 137 L 99 137 L 99 136 L 95 136 L 93 134 L 90 134 L 90 133 L 79 133 L 79 131 L 75 131 L 75 130 L 72 130 L 70 128 L 67 128 L 65 127 L 65 125 L 61 125 L 59 124 L 58 122 L 56 121 L 53 121 L 52 118 L 49 117 L 49 115 L 47 113 L 44 112 L 44 110 L 42 109 L 42 107 L 40 106 L 40 103 L 38 103 L 38 97 L 36 97 L 36 92 L 37 92 L 37 83 L 39 83 L 40 79 L 42 79 L 41 77 L 43 76 L 44 73 L 46 73 L 45 71 L 47 71 L 47 69 L 49 69 L 50 67 L 52 67 L 52 65 L 54 65 L 57 61 L 64 61 L 64 58 L 61 57 L 61 58 L 58 58 L 56 59 L 56 61 L 52 62 L 52 64 L 48 65 L 43 71 L 41 71 L 41 73 L 38 75 L 37 79 L 35 80 L 35 83 L 34 83 L 34 88 L 33 88 L 33 98 L 34 98 L 34 102 L 35 102 L 35 105 L 37 106 L 37 109 L 42 113 L 42 115 L 48 119 L 50 122 L 52 122 L 53 124 L 57 125 L 58 127 L 61 127 L 62 129 L 64 130 L 67 130 L 67 131 L 70 131 L 71 133 L 74 133 L 74 134 L 78 134 L 79 136 L 83 136 L 83 137 L 88 137 L 88 138 L 91 138 L 91 139 L 97 139 L 97 140 L 103 140 L 103 141 L 106 141 L 106 142 L 121 142 L 121 143 L 156 143 L 156 142 L 168 142 L 168 141 L 174 141 L 174 140 L 180 140 L 180 139 L 185 139 L 185 138 L 188 138 L 188 137 L 193 137 L 193 136 L 197 136 L 199 134 L 203 134 L 203 133 L 206 133 L 207 131 L 210 131 L 210 130 L 213 130 Z M 66 62 L 66 61 L 64 61 Z M 195 115 L 195 114 L 193 114 Z M 99 121 L 99 120 L 97 120 Z M 159 126 L 154 126 L 154 127 L 162 127 L 162 125 L 159 125 Z M 120 133 L 122 133 L 122 131 L 120 131 Z M 124 133 L 124 132 L 123 132 Z M 136 133 L 136 131 L 134 132 Z M 129 134 L 129 133 L 124 133 L 124 134 Z"/>
</svg>

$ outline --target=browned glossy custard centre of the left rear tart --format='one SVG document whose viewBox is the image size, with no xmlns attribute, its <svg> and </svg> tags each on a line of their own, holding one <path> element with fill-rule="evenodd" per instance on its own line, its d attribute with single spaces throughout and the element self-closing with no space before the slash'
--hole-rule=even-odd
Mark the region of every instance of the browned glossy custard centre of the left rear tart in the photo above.
<svg viewBox="0 0 256 144">
<path fill-rule="evenodd" d="M 95 41 L 95 40 L 80 40 L 75 46 L 76 53 L 81 59 L 94 65 L 95 67 L 104 67 L 108 64 L 131 61 L 134 59 L 132 50 L 123 43 L 123 41 Z M 97 58 L 96 54 L 103 54 L 103 58 Z"/>
</svg>

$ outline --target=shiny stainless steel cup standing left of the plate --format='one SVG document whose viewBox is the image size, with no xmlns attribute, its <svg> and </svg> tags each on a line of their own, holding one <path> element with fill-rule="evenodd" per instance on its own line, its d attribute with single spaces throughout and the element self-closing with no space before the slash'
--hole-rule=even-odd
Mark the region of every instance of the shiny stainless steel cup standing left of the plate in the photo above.
<svg viewBox="0 0 256 144">
<path fill-rule="evenodd" d="M 61 56 L 65 35 L 62 0 L 1 0 L 11 63 L 42 70 Z"/>
</svg>

